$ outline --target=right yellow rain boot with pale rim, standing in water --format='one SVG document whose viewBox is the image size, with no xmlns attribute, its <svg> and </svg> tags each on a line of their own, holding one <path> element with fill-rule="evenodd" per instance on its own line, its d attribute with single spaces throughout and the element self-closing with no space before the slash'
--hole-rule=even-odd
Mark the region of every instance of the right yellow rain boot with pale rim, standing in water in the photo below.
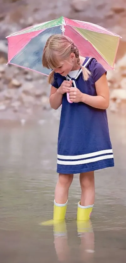
<svg viewBox="0 0 126 263">
<path fill-rule="evenodd" d="M 78 221 L 89 220 L 91 217 L 92 209 L 93 209 L 93 205 L 81 206 L 80 202 L 78 202 L 77 220 Z"/>
</svg>

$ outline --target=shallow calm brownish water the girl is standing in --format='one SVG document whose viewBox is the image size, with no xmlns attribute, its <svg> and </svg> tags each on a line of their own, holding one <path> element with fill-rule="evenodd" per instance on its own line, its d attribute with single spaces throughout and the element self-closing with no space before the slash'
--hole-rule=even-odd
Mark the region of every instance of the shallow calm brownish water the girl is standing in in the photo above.
<svg viewBox="0 0 126 263">
<path fill-rule="evenodd" d="M 40 223 L 53 217 L 58 120 L 45 115 L 41 124 L 0 123 L 1 262 L 125 262 L 126 116 L 109 114 L 109 127 L 115 167 L 95 172 L 91 224 L 76 223 L 75 175 L 66 222 L 53 229 Z"/>
</svg>

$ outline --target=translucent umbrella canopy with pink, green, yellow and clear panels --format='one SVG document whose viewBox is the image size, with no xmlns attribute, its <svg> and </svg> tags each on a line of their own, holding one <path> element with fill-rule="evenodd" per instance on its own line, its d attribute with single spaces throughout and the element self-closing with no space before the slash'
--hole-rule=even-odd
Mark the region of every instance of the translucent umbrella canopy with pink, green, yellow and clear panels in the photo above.
<svg viewBox="0 0 126 263">
<path fill-rule="evenodd" d="M 120 36 L 96 24 L 65 17 L 33 25 L 7 36 L 8 63 L 49 75 L 42 66 L 43 47 L 52 34 L 73 39 L 81 56 L 95 57 L 106 70 L 113 69 Z"/>
</svg>

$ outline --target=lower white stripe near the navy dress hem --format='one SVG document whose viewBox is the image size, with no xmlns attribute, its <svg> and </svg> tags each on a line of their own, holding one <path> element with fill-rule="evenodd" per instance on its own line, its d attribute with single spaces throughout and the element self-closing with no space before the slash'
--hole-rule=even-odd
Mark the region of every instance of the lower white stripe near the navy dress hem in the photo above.
<svg viewBox="0 0 126 263">
<path fill-rule="evenodd" d="M 98 157 L 95 157 L 95 158 L 85 159 L 85 160 L 78 160 L 78 161 L 61 161 L 61 160 L 57 160 L 57 163 L 61 164 L 61 165 L 78 165 L 78 164 L 92 163 L 92 162 L 97 162 L 97 161 L 100 161 L 100 160 L 112 159 L 112 158 L 113 158 L 113 154 L 111 154 L 111 155 L 102 155 L 102 156 L 98 156 Z"/>
</svg>

